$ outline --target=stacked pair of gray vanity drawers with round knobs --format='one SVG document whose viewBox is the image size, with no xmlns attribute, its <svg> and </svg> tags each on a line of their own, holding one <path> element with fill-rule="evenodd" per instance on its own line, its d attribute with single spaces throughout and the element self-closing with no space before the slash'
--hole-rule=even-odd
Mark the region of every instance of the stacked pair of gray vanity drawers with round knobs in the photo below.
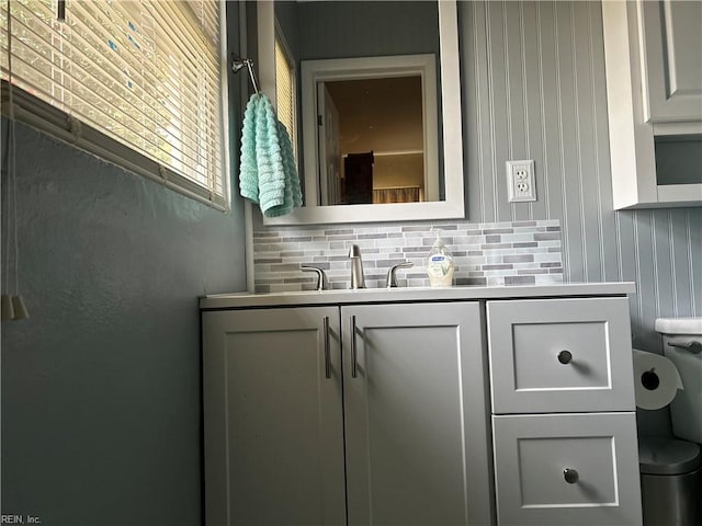
<svg viewBox="0 0 702 526">
<path fill-rule="evenodd" d="M 499 526 L 642 523 L 625 298 L 488 301 Z"/>
</svg>

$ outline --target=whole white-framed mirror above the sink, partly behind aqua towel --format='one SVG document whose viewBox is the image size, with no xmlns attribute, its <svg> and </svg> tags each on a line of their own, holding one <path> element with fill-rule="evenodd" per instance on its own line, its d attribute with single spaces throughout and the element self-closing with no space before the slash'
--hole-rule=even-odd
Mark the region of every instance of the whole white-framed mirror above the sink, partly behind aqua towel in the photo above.
<svg viewBox="0 0 702 526">
<path fill-rule="evenodd" d="M 365 220 L 366 207 L 374 220 L 462 217 L 455 2 L 276 0 L 258 12 L 260 65 L 274 47 L 305 194 L 273 222 Z"/>
</svg>

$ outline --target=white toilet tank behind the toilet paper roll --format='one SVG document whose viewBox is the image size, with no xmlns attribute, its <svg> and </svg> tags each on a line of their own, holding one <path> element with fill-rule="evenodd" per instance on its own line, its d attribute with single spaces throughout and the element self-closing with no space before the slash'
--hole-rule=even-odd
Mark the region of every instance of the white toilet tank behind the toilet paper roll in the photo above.
<svg viewBox="0 0 702 526">
<path fill-rule="evenodd" d="M 702 444 L 702 318 L 658 318 L 655 327 L 682 378 L 670 403 L 672 434 Z"/>
</svg>

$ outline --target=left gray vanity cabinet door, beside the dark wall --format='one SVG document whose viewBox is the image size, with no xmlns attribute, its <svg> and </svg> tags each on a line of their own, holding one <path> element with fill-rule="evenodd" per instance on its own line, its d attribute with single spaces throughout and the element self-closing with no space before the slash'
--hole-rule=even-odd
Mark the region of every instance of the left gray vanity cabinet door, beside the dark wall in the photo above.
<svg viewBox="0 0 702 526">
<path fill-rule="evenodd" d="M 207 525 L 346 523 L 340 358 L 337 307 L 203 313 Z"/>
</svg>

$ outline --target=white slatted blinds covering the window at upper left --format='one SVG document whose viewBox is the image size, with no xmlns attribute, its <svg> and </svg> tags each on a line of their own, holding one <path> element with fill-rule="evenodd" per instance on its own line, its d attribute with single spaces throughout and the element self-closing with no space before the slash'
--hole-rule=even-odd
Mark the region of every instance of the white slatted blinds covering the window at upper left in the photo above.
<svg viewBox="0 0 702 526">
<path fill-rule="evenodd" d="M 61 123 L 45 111 L 44 121 L 87 149 L 226 208 L 224 9 L 216 0 L 2 0 L 0 65 L 22 90 L 13 89 L 15 115 L 41 113 L 43 101 L 65 114 Z"/>
</svg>

